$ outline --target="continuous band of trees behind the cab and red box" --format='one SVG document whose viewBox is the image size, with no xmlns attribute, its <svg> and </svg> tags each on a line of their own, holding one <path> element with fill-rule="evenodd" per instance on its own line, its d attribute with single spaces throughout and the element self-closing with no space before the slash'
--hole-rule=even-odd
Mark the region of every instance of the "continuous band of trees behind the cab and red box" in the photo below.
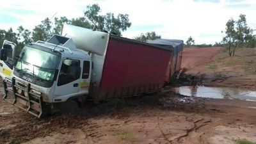
<svg viewBox="0 0 256 144">
<path fill-rule="evenodd" d="M 36 42 L 38 40 L 46 41 L 54 34 L 61 34 L 63 24 L 72 24 L 83 28 L 97 29 L 107 33 L 115 33 L 115 35 L 122 36 L 122 31 L 126 31 L 131 27 L 128 14 L 118 14 L 108 12 L 106 15 L 100 15 L 100 6 L 92 4 L 86 6 L 84 17 L 77 17 L 67 19 L 67 17 L 55 17 L 54 20 L 42 20 L 40 24 L 35 26 L 32 31 L 25 29 L 22 26 L 17 28 L 17 32 L 12 28 L 7 31 L 0 29 L 0 44 L 4 40 L 9 40 L 17 44 L 18 50 L 22 49 L 25 44 Z"/>
</svg>

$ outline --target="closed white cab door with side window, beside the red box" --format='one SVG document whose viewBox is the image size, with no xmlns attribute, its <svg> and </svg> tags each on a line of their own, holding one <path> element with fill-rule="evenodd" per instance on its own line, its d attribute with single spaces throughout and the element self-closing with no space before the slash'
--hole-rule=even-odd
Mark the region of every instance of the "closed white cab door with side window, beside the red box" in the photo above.
<svg viewBox="0 0 256 144">
<path fill-rule="evenodd" d="M 79 92 L 81 81 L 81 61 L 64 59 L 61 63 L 57 85 L 54 90 L 54 102 L 63 102 Z"/>
</svg>

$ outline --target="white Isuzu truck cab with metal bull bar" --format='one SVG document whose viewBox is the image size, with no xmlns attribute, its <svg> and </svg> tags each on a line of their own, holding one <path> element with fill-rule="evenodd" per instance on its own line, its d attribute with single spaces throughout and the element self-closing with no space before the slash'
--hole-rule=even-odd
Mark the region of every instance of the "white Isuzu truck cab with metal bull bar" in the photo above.
<svg viewBox="0 0 256 144">
<path fill-rule="evenodd" d="M 1 50 L 3 68 L 7 65 L 4 61 L 8 61 L 6 55 L 7 51 Z M 91 68 L 90 54 L 76 49 L 70 38 L 54 35 L 47 42 L 25 45 L 13 67 L 7 69 L 8 75 L 5 69 L 1 71 L 4 100 L 40 117 L 54 102 L 86 97 Z"/>
</svg>

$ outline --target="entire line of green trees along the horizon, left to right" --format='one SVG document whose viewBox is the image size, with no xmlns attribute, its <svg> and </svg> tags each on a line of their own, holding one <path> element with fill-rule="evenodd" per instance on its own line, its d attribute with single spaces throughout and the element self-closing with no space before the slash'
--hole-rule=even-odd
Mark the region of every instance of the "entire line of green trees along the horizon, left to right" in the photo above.
<svg viewBox="0 0 256 144">
<path fill-rule="evenodd" d="M 126 31 L 131 27 L 128 14 L 119 13 L 117 16 L 114 13 L 108 12 L 106 15 L 100 15 L 101 9 L 98 4 L 92 4 L 86 6 L 84 17 L 77 17 L 73 19 L 67 19 L 67 17 L 55 17 L 53 20 L 47 17 L 42 20 L 40 24 L 36 25 L 32 31 L 25 29 L 22 26 L 17 28 L 17 32 L 12 28 L 7 31 L 0 29 L 0 44 L 3 44 L 4 40 L 9 40 L 17 44 L 18 51 L 24 47 L 25 44 L 36 42 L 38 40 L 46 41 L 54 34 L 61 34 L 63 24 L 72 24 L 88 29 L 97 29 L 98 31 L 104 31 L 106 33 L 113 33 L 118 36 L 122 36 L 122 31 Z M 254 29 L 255 30 L 255 29 Z M 253 35 L 253 29 L 251 29 L 246 23 L 246 15 L 239 15 L 238 20 L 229 19 L 225 31 L 221 31 L 225 36 L 221 42 L 216 44 L 202 44 L 195 45 L 195 40 L 192 36 L 189 36 L 186 41 L 186 47 L 211 47 L 221 46 L 228 50 L 229 56 L 234 56 L 237 47 L 256 47 L 256 36 Z M 157 35 L 155 31 L 141 33 L 139 36 L 134 37 L 135 40 L 141 42 L 147 42 L 148 40 L 155 40 L 161 38 L 161 35 Z"/>
</svg>

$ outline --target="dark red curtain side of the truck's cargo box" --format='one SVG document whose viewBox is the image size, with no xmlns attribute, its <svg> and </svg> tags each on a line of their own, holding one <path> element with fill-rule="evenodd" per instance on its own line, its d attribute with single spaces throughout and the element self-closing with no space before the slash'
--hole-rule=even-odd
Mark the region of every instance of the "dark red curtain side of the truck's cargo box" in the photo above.
<svg viewBox="0 0 256 144">
<path fill-rule="evenodd" d="M 170 49 L 110 35 L 97 100 L 160 92 Z M 95 92 L 94 92 L 95 93 Z"/>
</svg>

